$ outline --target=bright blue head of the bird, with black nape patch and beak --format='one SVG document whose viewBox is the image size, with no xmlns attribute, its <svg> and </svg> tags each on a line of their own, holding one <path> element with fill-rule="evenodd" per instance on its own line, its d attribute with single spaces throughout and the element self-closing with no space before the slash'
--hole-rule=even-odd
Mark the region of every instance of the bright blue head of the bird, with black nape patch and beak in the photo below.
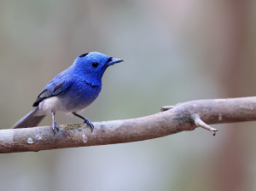
<svg viewBox="0 0 256 191">
<path fill-rule="evenodd" d="M 72 68 L 74 72 L 80 73 L 87 82 L 97 84 L 102 81 L 102 76 L 109 66 L 121 61 L 123 60 L 99 52 L 90 52 L 79 55 L 73 62 Z"/>
</svg>

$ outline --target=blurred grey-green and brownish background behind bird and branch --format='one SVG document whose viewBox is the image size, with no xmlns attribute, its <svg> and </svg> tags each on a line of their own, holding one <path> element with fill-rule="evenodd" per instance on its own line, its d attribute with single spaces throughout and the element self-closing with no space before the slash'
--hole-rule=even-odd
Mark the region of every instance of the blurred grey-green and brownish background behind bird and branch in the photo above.
<svg viewBox="0 0 256 191">
<path fill-rule="evenodd" d="M 198 99 L 255 96 L 256 1 L 2 0 L 0 119 L 10 128 L 83 53 L 124 59 L 83 115 L 130 119 Z M 58 124 L 81 123 L 56 114 Z M 51 124 L 48 116 L 41 125 Z M 0 155 L 0 190 L 256 190 L 256 123 L 144 142 Z"/>
</svg>

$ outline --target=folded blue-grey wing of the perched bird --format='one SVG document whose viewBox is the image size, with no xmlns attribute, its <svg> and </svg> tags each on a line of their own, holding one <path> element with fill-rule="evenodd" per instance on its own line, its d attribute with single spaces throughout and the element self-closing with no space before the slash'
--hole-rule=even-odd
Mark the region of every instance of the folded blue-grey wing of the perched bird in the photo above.
<svg viewBox="0 0 256 191">
<path fill-rule="evenodd" d="M 54 78 L 45 87 L 44 90 L 38 95 L 38 99 L 33 103 L 33 107 L 37 107 L 38 104 L 45 98 L 50 96 L 57 96 L 63 91 L 67 90 L 68 83 L 64 78 Z"/>
</svg>

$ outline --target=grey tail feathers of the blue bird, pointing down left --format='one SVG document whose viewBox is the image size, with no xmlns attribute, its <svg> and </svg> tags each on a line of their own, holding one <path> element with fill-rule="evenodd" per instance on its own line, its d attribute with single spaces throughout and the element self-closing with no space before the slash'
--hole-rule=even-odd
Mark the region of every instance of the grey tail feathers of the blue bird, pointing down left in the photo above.
<svg viewBox="0 0 256 191">
<path fill-rule="evenodd" d="M 46 115 L 36 115 L 36 112 L 38 111 L 38 107 L 35 108 L 32 112 L 28 113 L 25 117 L 20 119 L 12 129 L 17 128 L 26 128 L 26 127 L 36 127 L 38 124 L 44 119 Z"/>
</svg>

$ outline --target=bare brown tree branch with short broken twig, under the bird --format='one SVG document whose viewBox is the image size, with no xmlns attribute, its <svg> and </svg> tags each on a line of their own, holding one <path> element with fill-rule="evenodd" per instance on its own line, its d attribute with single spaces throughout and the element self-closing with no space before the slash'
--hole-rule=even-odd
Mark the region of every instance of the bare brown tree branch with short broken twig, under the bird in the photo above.
<svg viewBox="0 0 256 191">
<path fill-rule="evenodd" d="M 168 136 L 200 126 L 212 132 L 208 124 L 256 120 L 256 97 L 199 100 L 162 107 L 161 113 L 143 118 L 93 123 L 90 131 L 84 124 L 59 125 L 54 136 L 51 126 L 0 130 L 0 153 L 77 148 L 124 142 L 138 142 Z"/>
</svg>

